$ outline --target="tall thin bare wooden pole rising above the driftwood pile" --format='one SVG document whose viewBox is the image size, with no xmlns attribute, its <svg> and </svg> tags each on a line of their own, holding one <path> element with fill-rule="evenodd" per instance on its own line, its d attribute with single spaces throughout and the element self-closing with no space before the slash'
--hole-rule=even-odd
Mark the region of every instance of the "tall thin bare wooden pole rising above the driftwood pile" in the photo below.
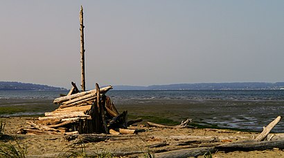
<svg viewBox="0 0 284 158">
<path fill-rule="evenodd" d="M 80 37 L 81 37 L 81 87 L 82 91 L 85 91 L 85 49 L 84 49 L 84 24 L 83 24 L 83 7 L 80 10 Z"/>
</svg>

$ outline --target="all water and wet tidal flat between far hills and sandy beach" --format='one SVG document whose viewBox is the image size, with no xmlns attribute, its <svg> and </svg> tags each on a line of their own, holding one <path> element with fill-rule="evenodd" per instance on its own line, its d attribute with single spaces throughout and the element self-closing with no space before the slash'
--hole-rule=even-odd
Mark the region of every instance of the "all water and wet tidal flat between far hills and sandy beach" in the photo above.
<svg viewBox="0 0 284 158">
<path fill-rule="evenodd" d="M 66 93 L 68 91 L 0 91 L 0 108 L 17 106 L 25 109 L 24 112 L 9 114 L 0 112 L 0 115 L 44 114 L 56 109 L 52 104 L 53 99 Z M 284 113 L 284 90 L 111 90 L 107 92 L 107 96 L 112 98 L 118 108 L 127 105 L 130 113 L 132 110 L 149 109 L 154 114 L 170 119 L 178 120 L 188 116 L 198 123 L 209 123 L 222 128 L 261 131 L 264 125 Z M 131 109 L 131 106 L 135 108 Z M 33 110 L 29 111 L 29 108 Z M 274 132 L 284 132 L 284 123 L 279 123 Z"/>
</svg>

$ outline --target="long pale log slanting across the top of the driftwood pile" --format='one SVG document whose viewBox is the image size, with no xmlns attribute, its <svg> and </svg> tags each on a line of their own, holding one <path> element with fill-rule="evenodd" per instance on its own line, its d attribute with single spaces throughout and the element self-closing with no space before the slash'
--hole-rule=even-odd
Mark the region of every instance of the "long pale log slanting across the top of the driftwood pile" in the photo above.
<svg viewBox="0 0 284 158">
<path fill-rule="evenodd" d="M 100 89 L 100 93 L 105 94 L 107 91 L 109 91 L 109 89 L 112 89 L 112 86 L 103 87 L 103 88 Z M 55 98 L 53 103 L 59 104 L 59 103 L 62 103 L 64 101 L 66 101 L 66 100 L 71 100 L 73 98 L 78 98 L 80 96 L 85 96 L 87 94 L 93 94 L 93 93 L 96 94 L 96 89 L 93 89 L 91 91 L 82 91 L 82 92 L 80 92 L 78 94 L 72 94 L 70 96 L 62 96 L 60 98 Z"/>
</svg>

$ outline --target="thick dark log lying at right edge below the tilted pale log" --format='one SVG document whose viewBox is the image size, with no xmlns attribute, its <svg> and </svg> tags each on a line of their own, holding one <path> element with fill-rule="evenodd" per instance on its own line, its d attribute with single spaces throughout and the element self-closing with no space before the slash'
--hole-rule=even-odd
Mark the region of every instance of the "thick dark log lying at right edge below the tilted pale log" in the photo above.
<svg viewBox="0 0 284 158">
<path fill-rule="evenodd" d="M 227 143 L 224 145 L 216 146 L 215 149 L 220 151 L 252 151 L 252 150 L 269 150 L 273 148 L 284 149 L 284 140 L 278 141 L 242 141 Z"/>
</svg>

